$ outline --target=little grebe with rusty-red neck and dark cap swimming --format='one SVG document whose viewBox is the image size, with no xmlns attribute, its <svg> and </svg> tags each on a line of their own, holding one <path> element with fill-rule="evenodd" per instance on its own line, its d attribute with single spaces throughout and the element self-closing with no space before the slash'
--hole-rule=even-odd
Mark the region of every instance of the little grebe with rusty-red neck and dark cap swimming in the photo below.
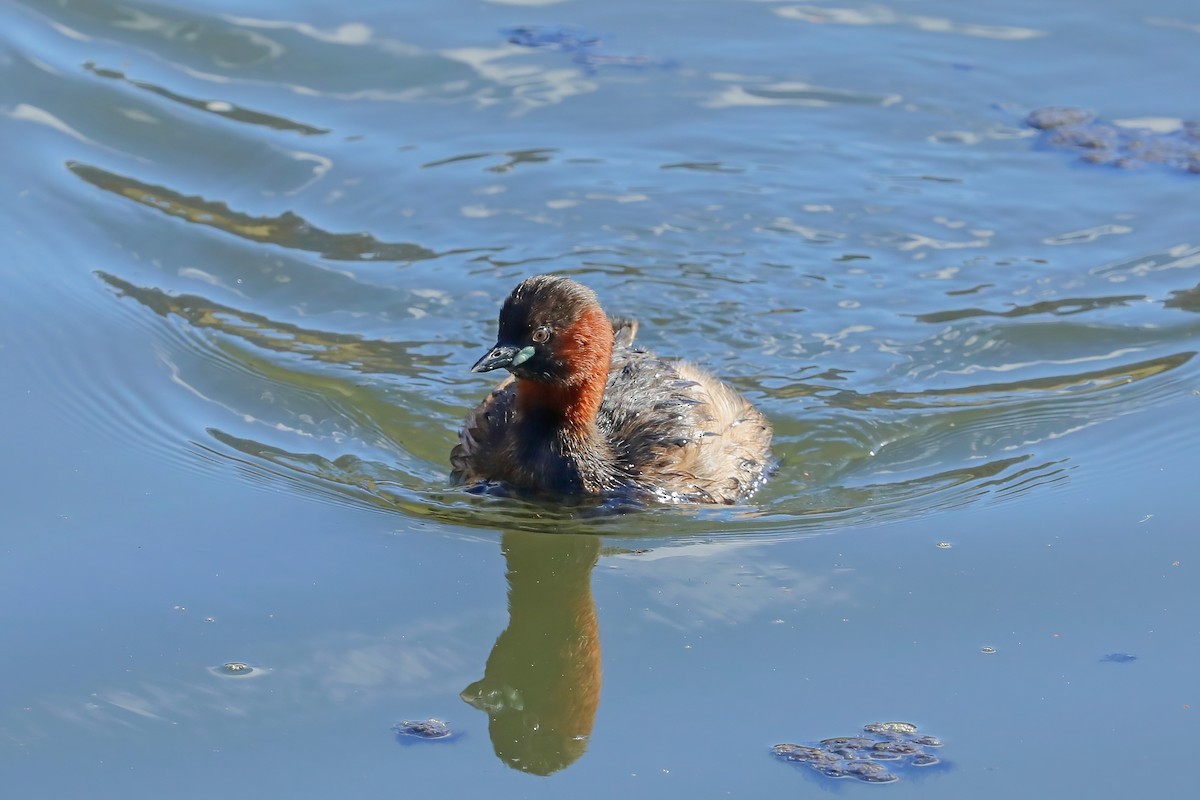
<svg viewBox="0 0 1200 800">
<path fill-rule="evenodd" d="M 458 483 L 575 495 L 734 503 L 770 469 L 770 425 L 728 385 L 632 347 L 569 278 L 526 279 L 472 372 L 512 373 L 472 411 L 450 453 Z"/>
</svg>

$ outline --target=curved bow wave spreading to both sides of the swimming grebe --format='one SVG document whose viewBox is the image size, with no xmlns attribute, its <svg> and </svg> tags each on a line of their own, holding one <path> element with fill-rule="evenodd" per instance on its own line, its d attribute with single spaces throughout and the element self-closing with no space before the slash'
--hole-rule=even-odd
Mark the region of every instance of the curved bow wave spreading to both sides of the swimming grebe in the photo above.
<svg viewBox="0 0 1200 800">
<path fill-rule="evenodd" d="M 446 452 L 473 399 L 450 391 L 440 392 L 439 403 L 439 393 L 428 391 L 442 380 L 430 375 L 452 363 L 444 349 L 428 353 L 419 341 L 380 342 L 302 327 L 194 294 L 170 295 L 112 275 L 100 277 L 118 296 L 178 320 L 187 335 L 182 351 L 168 360 L 173 384 L 235 423 L 204 426 L 206 438 L 190 445 L 197 463 L 210 470 L 232 468 L 269 491 L 467 529 L 568 527 L 644 536 L 710 534 L 719 522 L 728 535 L 791 536 L 1018 498 L 1061 485 L 1076 469 L 1068 456 L 1054 455 L 1052 443 L 1177 396 L 1178 379 L 1164 379 L 1195 355 L 1181 351 L 1096 369 L 914 391 L 810 385 L 799 395 L 811 404 L 803 423 L 775 416 L 782 465 L 758 497 L 732 509 L 643 509 L 632 515 L 635 521 L 598 515 L 605 509 L 589 501 L 547 509 L 449 487 Z M 954 353 L 976 369 L 979 355 L 966 344 Z M 1120 361 L 1122 351 L 1130 350 L 1097 357 Z M 1058 366 L 1088 362 L 1078 348 L 1073 353 Z M 241 378 L 222 378 L 229 372 Z M 355 378 L 386 374 L 404 375 L 403 389 Z M 768 401 L 792 393 L 786 383 L 779 389 L 752 377 L 739 383 Z M 769 413 L 769 402 L 767 408 Z M 216 419 L 212 413 L 206 417 Z"/>
</svg>

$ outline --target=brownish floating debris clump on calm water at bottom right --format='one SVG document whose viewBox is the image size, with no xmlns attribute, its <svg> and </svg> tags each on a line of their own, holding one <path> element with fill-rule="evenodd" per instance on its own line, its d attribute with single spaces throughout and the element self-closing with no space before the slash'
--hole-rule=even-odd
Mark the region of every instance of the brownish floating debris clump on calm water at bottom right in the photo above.
<svg viewBox="0 0 1200 800">
<path fill-rule="evenodd" d="M 929 752 L 941 747 L 935 736 L 918 735 L 911 722 L 872 722 L 863 727 L 863 736 L 835 736 L 816 745 L 775 745 L 776 758 L 804 764 L 826 777 L 851 777 L 864 783 L 894 783 L 900 776 L 893 769 L 932 766 L 941 759 Z M 881 762 L 887 762 L 887 766 Z"/>
</svg>

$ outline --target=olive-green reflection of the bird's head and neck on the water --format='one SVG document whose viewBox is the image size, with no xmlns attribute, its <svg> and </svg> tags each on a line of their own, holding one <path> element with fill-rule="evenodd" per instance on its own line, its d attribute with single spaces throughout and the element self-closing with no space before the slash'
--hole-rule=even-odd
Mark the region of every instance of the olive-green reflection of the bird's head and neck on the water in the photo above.
<svg viewBox="0 0 1200 800">
<path fill-rule="evenodd" d="M 592 567 L 600 540 L 506 533 L 509 626 L 484 676 L 462 698 L 488 716 L 496 754 L 512 769 L 550 775 L 587 750 L 600 704 L 600 630 Z"/>
</svg>

